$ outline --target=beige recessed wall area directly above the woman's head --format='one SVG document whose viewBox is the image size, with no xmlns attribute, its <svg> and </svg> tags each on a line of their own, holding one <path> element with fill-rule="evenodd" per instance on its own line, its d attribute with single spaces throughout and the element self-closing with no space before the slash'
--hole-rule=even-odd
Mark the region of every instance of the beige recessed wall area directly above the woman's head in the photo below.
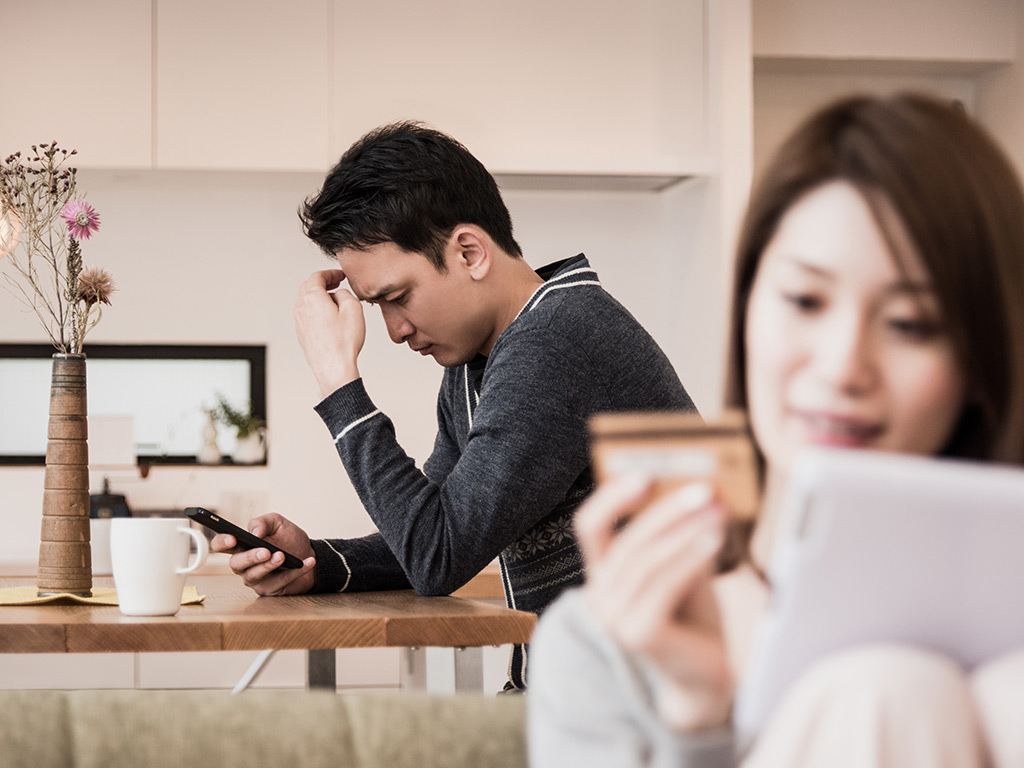
<svg viewBox="0 0 1024 768">
<path fill-rule="evenodd" d="M 756 0 L 755 175 L 812 110 L 851 93 L 964 103 L 1024 158 L 1019 0 Z"/>
</svg>

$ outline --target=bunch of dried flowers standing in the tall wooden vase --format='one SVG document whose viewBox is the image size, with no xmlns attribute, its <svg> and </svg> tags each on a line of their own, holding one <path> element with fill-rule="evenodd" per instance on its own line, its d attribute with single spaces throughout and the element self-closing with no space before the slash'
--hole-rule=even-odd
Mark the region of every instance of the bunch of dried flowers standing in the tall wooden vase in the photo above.
<svg viewBox="0 0 1024 768">
<path fill-rule="evenodd" d="M 82 351 L 114 291 L 110 274 L 83 267 L 80 241 L 99 228 L 99 214 L 76 199 L 78 169 L 66 166 L 75 154 L 48 141 L 0 163 L 0 257 L 10 267 L 0 276 L 71 353 Z"/>
</svg>

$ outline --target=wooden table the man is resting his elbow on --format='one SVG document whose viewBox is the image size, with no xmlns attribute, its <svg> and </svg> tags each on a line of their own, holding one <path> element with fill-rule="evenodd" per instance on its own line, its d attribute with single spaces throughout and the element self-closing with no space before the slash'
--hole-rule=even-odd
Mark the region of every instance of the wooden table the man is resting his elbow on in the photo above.
<svg viewBox="0 0 1024 768">
<path fill-rule="evenodd" d="M 32 584 L 0 578 L 0 587 Z M 95 578 L 97 587 L 113 586 Z M 0 652 L 102 653 L 304 649 L 307 681 L 335 687 L 335 649 L 402 647 L 403 681 L 425 682 L 422 649 L 477 651 L 529 640 L 537 616 L 460 597 L 421 597 L 412 590 L 258 597 L 233 574 L 189 578 L 207 598 L 174 616 L 126 616 L 115 606 L 0 606 Z M 455 654 L 454 687 L 482 686 L 479 653 Z M 460 674 L 460 670 L 461 673 Z"/>
</svg>

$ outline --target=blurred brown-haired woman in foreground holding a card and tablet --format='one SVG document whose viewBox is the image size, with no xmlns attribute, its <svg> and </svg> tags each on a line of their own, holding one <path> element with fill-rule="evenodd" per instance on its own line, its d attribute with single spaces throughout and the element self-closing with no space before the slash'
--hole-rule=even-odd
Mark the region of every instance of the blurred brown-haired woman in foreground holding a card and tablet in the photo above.
<svg viewBox="0 0 1024 768">
<path fill-rule="evenodd" d="M 587 584 L 531 645 L 535 766 L 1022 764 L 1008 720 L 1024 653 L 969 676 L 923 649 L 856 649 L 813 666 L 753 745 L 728 727 L 797 453 L 1024 464 L 1020 297 L 1024 195 L 963 110 L 902 95 L 812 116 L 739 243 L 728 400 L 750 414 L 765 482 L 744 557 L 716 566 L 737 531 L 707 486 L 649 505 L 642 478 L 599 488 L 577 518 Z"/>
</svg>

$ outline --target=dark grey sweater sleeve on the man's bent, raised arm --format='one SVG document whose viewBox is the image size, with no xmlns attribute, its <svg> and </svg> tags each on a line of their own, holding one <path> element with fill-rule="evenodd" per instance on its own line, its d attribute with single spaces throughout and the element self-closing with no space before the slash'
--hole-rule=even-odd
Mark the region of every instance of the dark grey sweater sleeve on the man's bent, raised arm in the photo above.
<svg viewBox="0 0 1024 768">
<path fill-rule="evenodd" d="M 439 425 L 427 473 L 397 443 L 361 380 L 316 407 L 364 507 L 421 594 L 446 595 L 472 579 L 549 514 L 589 466 L 586 421 L 598 377 L 557 335 L 519 336 L 488 362 L 461 453 Z M 372 566 L 360 553 L 344 557 L 353 584 Z"/>
</svg>

